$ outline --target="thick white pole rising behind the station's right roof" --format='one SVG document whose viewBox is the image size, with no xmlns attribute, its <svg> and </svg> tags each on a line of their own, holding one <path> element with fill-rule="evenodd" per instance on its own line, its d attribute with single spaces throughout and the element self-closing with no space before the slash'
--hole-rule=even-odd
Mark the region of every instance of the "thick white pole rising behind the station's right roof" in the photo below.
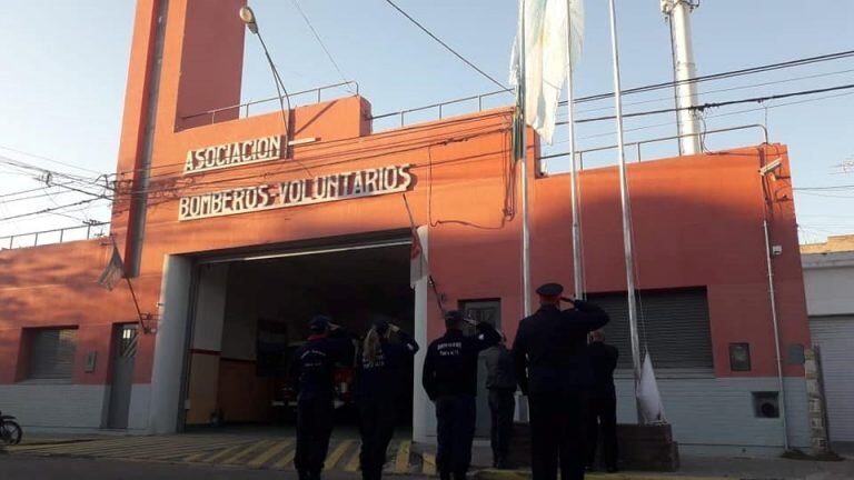
<svg viewBox="0 0 854 480">
<path fill-rule="evenodd" d="M 699 119 L 697 112 L 691 109 L 697 104 L 697 86 L 692 81 L 697 74 L 697 66 L 694 63 L 694 48 L 691 42 L 691 12 L 697 7 L 699 0 L 662 0 L 662 12 L 671 24 L 681 156 L 701 152 Z"/>
</svg>

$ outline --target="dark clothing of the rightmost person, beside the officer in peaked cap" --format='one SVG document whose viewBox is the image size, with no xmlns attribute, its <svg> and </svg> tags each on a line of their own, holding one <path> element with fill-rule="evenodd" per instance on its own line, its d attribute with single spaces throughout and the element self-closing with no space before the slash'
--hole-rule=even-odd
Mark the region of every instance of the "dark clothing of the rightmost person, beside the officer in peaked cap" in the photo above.
<svg viewBox="0 0 854 480">
<path fill-rule="evenodd" d="M 602 429 L 602 462 L 608 471 L 617 468 L 617 396 L 614 369 L 619 351 L 616 347 L 594 341 L 587 347 L 593 366 L 593 388 L 587 413 L 587 464 L 596 461 L 598 433 Z"/>
</svg>

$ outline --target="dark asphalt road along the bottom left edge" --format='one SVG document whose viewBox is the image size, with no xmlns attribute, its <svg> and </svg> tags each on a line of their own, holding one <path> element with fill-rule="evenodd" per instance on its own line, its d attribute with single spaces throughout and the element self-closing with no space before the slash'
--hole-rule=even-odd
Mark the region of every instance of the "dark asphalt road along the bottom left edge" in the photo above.
<svg viewBox="0 0 854 480">
<path fill-rule="evenodd" d="M 295 472 L 280 470 L 0 454 L 0 479 L 3 480 L 284 480 L 295 478 Z M 361 477 L 358 473 L 332 471 L 324 474 L 324 478 L 328 480 L 358 480 Z M 407 480 L 417 478 L 407 477 Z"/>
</svg>

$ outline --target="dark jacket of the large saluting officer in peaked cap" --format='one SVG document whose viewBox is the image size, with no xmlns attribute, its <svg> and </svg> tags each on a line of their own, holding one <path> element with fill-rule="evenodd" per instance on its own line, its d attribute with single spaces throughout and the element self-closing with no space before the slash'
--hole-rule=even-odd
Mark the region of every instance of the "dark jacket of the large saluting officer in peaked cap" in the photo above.
<svg viewBox="0 0 854 480">
<path fill-rule="evenodd" d="M 564 311 L 543 306 L 519 323 L 513 357 L 523 393 L 573 391 L 593 386 L 587 333 L 600 329 L 609 319 L 593 303 L 574 303 L 575 309 Z"/>
</svg>

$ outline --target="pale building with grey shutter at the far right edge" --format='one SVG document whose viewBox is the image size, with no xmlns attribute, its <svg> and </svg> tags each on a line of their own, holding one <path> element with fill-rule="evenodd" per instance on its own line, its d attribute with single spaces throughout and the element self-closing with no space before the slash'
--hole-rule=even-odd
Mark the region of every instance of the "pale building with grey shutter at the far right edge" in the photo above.
<svg viewBox="0 0 854 480">
<path fill-rule="evenodd" d="M 854 234 L 801 246 L 832 442 L 854 442 Z"/>
</svg>

